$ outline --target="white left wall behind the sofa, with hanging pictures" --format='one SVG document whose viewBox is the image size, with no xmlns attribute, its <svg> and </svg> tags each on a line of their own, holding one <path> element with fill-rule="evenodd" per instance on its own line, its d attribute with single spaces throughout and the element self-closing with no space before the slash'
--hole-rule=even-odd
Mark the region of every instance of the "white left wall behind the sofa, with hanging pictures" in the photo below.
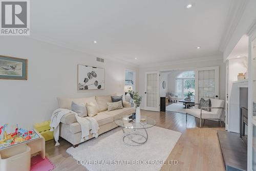
<svg viewBox="0 0 256 171">
<path fill-rule="evenodd" d="M 0 53 L 28 59 L 28 80 L 0 80 L 0 125 L 9 127 L 18 123 L 28 128 L 49 120 L 58 96 L 123 94 L 125 69 L 138 73 L 127 62 L 97 62 L 94 56 L 22 36 L 1 36 Z M 105 90 L 77 91 L 78 64 L 104 68 Z"/>
</svg>

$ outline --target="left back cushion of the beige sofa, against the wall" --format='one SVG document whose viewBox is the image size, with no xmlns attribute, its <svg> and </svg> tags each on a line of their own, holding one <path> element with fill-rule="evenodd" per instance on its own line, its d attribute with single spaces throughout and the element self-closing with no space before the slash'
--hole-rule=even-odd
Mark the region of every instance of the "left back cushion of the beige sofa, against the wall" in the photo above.
<svg viewBox="0 0 256 171">
<path fill-rule="evenodd" d="M 99 108 L 98 103 L 95 99 L 95 96 L 92 97 L 84 97 L 84 98 L 64 98 L 64 97 L 57 97 L 59 108 L 65 108 L 71 110 L 71 103 L 74 101 L 75 103 L 90 103 L 93 102 L 97 108 Z M 99 110 L 98 110 L 99 111 Z"/>
</svg>

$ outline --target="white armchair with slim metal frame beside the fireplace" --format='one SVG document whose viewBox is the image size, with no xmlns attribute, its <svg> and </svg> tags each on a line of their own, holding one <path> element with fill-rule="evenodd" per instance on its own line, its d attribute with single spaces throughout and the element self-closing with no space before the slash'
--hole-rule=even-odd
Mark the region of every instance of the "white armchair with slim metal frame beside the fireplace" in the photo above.
<svg viewBox="0 0 256 171">
<path fill-rule="evenodd" d="M 224 106 L 225 106 L 225 101 L 224 100 L 219 100 L 219 99 L 210 99 L 211 101 L 211 108 L 190 108 L 186 109 L 186 122 L 187 122 L 187 115 L 192 115 L 195 116 L 196 118 L 200 119 L 200 127 L 201 127 L 201 122 L 202 119 L 205 120 L 214 120 L 214 121 L 219 121 L 220 125 L 222 127 L 221 123 L 221 117 L 224 112 Z M 186 105 L 189 105 L 190 103 L 187 103 Z M 199 103 L 195 103 L 199 104 Z M 203 109 L 211 109 L 211 112 L 205 111 Z"/>
</svg>

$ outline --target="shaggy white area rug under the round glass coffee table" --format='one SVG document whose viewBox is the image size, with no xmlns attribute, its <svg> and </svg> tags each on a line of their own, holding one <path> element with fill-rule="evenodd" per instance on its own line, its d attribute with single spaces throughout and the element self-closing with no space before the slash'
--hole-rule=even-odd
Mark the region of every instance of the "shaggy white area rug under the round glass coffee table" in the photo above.
<svg viewBox="0 0 256 171">
<path fill-rule="evenodd" d="M 167 159 L 181 133 L 157 126 L 147 129 L 147 133 L 148 140 L 145 144 L 129 146 L 123 142 L 123 132 L 120 127 L 117 127 L 98 138 L 78 145 L 76 148 L 68 148 L 67 153 L 79 162 L 87 162 L 83 165 L 90 171 L 160 170 L 162 166 L 160 162 Z M 142 164 L 133 164 L 136 160 L 140 160 Z M 127 162 L 125 163 L 125 161 Z M 159 163 L 148 164 L 148 162 L 158 161 Z M 101 164 L 94 164 L 94 162 L 101 162 Z"/>
</svg>

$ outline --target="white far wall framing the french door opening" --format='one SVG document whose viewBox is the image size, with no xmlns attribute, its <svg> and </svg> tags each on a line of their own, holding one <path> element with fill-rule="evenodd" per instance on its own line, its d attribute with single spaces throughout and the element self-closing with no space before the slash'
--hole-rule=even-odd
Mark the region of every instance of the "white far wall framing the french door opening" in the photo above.
<svg viewBox="0 0 256 171">
<path fill-rule="evenodd" d="M 207 59 L 207 60 L 205 60 Z M 144 108 L 144 92 L 145 92 L 145 82 L 144 76 L 146 71 L 170 71 L 170 70 L 194 70 L 196 68 L 204 68 L 204 67 L 220 67 L 220 83 L 219 83 L 219 97 L 220 99 L 225 100 L 225 79 L 226 79 L 226 67 L 225 63 L 223 62 L 222 56 L 213 56 L 210 58 L 205 59 L 194 59 L 194 60 L 180 60 L 180 61 L 173 61 L 167 63 L 167 65 L 157 65 L 155 66 L 148 66 L 148 67 L 141 67 L 139 70 L 139 94 L 142 95 L 142 104 L 141 108 Z"/>
</svg>

